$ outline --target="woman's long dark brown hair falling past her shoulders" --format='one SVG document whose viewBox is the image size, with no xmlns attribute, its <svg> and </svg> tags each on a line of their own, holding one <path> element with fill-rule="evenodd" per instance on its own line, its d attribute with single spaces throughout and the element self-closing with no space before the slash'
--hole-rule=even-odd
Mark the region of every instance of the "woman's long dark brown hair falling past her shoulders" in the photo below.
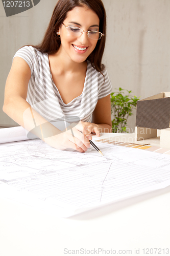
<svg viewBox="0 0 170 256">
<path fill-rule="evenodd" d="M 60 37 L 57 36 L 56 32 L 62 22 L 64 22 L 67 12 L 77 6 L 87 6 L 95 12 L 100 19 L 99 31 L 105 34 L 105 36 L 102 36 L 102 38 L 98 40 L 95 49 L 87 59 L 91 62 L 94 69 L 102 72 L 104 70 L 104 66 L 101 61 L 106 41 L 106 11 L 101 0 L 59 0 L 53 11 L 50 24 L 48 25 L 41 44 L 33 47 L 42 53 L 56 53 L 61 45 Z"/>
</svg>

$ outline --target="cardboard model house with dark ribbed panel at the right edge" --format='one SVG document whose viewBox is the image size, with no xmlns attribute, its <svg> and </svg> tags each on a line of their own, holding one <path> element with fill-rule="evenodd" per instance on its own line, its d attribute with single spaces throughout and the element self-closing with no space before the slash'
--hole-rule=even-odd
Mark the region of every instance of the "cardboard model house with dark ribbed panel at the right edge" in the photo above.
<svg viewBox="0 0 170 256">
<path fill-rule="evenodd" d="M 170 92 L 161 92 L 137 101 L 135 140 L 157 137 L 160 145 L 170 148 Z M 166 139 L 165 139 L 166 138 Z"/>
</svg>

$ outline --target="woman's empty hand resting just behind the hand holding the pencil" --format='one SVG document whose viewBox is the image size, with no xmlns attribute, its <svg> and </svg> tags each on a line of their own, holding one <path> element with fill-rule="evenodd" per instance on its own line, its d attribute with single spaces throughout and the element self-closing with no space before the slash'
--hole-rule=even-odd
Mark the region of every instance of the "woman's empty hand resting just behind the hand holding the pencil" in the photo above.
<svg viewBox="0 0 170 256">
<path fill-rule="evenodd" d="M 77 130 L 82 132 L 89 140 L 92 139 L 90 135 L 91 133 L 95 133 L 96 136 L 100 136 L 98 124 L 80 121 L 75 127 Z"/>
</svg>

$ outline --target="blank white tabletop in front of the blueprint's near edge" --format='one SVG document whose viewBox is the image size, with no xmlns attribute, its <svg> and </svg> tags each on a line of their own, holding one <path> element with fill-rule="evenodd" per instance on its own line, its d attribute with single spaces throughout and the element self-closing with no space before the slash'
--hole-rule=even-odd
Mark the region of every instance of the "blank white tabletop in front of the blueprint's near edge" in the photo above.
<svg viewBox="0 0 170 256">
<path fill-rule="evenodd" d="M 0 205 L 1 256 L 170 254 L 169 187 L 66 219 L 3 195 Z"/>
</svg>

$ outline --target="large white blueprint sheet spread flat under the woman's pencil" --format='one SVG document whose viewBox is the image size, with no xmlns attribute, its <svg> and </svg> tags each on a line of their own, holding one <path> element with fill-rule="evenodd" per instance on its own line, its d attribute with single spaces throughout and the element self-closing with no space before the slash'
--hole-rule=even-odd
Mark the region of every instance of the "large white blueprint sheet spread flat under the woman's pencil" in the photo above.
<svg viewBox="0 0 170 256">
<path fill-rule="evenodd" d="M 170 155 L 106 143 L 86 153 L 40 139 L 0 145 L 0 193 L 68 217 L 170 185 Z"/>
</svg>

